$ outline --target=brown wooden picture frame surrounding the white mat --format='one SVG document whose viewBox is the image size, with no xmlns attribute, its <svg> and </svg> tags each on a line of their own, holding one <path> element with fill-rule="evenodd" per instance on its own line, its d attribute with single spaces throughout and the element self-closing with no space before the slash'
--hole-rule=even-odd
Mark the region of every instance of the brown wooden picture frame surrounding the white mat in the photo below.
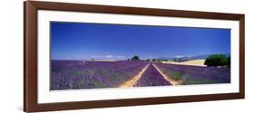
<svg viewBox="0 0 256 113">
<path fill-rule="evenodd" d="M 201 19 L 235 20 L 240 22 L 240 91 L 239 93 L 158 97 L 143 99 L 111 99 L 60 103 L 37 103 L 37 10 L 91 12 L 107 14 L 138 14 Z M 136 8 L 108 5 L 82 5 L 26 1 L 24 3 L 24 111 L 49 111 L 79 108 L 108 108 L 190 101 L 244 99 L 244 14 L 223 14 L 195 11 Z"/>
</svg>

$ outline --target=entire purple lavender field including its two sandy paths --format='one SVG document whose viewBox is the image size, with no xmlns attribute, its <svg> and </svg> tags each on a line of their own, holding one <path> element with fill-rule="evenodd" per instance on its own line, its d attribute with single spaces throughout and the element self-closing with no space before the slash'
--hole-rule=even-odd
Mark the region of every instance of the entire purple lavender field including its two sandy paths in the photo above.
<svg viewBox="0 0 256 113">
<path fill-rule="evenodd" d="M 230 68 L 154 61 L 51 61 L 50 78 L 51 90 L 230 83 Z"/>
</svg>

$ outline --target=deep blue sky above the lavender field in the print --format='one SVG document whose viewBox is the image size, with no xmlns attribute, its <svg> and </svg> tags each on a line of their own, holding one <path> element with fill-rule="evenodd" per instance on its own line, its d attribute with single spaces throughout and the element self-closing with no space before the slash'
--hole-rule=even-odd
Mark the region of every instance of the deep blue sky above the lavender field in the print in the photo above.
<svg viewBox="0 0 256 113">
<path fill-rule="evenodd" d="M 230 53 L 230 29 L 51 22 L 52 60 Z"/>
</svg>

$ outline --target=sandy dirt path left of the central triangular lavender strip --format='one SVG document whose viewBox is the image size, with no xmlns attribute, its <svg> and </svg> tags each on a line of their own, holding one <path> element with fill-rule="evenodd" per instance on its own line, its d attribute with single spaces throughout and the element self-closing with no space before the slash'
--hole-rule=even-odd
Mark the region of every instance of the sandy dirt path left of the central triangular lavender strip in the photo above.
<svg viewBox="0 0 256 113">
<path fill-rule="evenodd" d="M 135 86 L 135 84 L 138 82 L 138 80 L 140 79 L 140 77 L 142 76 L 142 74 L 148 69 L 149 63 L 148 65 L 142 69 L 141 71 L 138 72 L 138 74 L 136 76 L 134 76 L 131 80 L 128 80 L 124 83 L 122 83 L 119 88 L 127 88 L 127 87 L 133 87 Z"/>
</svg>

